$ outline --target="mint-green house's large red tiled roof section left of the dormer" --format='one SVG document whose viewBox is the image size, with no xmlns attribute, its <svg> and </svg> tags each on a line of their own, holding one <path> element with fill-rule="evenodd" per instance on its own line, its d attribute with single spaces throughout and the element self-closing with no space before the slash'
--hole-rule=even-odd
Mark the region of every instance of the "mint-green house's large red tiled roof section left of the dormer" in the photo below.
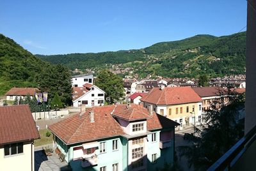
<svg viewBox="0 0 256 171">
<path fill-rule="evenodd" d="M 89 108 L 83 115 L 74 115 L 52 124 L 49 129 L 66 144 L 86 142 L 100 138 L 124 135 L 124 131 L 111 116 L 114 105 Z M 94 123 L 90 123 L 89 112 L 94 112 Z"/>
</svg>

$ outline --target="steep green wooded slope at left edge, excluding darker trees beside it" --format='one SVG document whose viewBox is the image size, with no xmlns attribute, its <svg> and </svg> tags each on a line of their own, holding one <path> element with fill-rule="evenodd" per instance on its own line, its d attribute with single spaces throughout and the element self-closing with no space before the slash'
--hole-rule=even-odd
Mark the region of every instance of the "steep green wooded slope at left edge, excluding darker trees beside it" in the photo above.
<svg viewBox="0 0 256 171">
<path fill-rule="evenodd" d="M 48 63 L 0 34 L 0 94 L 11 87 L 37 87 L 35 75 Z"/>
</svg>

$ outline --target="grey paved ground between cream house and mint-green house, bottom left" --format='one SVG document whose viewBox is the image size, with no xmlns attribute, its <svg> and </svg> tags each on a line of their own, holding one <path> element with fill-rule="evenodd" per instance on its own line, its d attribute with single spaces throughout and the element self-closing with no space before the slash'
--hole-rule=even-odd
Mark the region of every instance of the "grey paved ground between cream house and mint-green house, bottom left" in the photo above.
<svg viewBox="0 0 256 171">
<path fill-rule="evenodd" d="M 43 150 L 35 151 L 35 171 L 70 171 L 67 162 L 61 162 L 59 156 L 53 152 L 52 156 L 46 156 Z"/>
</svg>

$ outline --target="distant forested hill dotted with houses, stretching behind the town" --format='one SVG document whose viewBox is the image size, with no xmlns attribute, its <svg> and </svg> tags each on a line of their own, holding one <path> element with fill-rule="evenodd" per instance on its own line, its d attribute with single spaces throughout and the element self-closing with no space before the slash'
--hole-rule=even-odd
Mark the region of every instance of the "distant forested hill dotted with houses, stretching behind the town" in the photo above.
<svg viewBox="0 0 256 171">
<path fill-rule="evenodd" d="M 245 73 L 246 33 L 230 36 L 196 35 L 179 41 L 156 43 L 138 50 L 86 54 L 36 55 L 53 64 L 82 71 L 109 68 L 124 75 L 155 77 L 211 77 Z M 125 69 L 126 68 L 126 69 Z"/>
</svg>

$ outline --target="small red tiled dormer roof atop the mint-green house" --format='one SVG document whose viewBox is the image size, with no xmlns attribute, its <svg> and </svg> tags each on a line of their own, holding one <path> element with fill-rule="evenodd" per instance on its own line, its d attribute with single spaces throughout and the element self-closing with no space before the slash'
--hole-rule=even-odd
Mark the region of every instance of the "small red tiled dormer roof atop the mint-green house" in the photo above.
<svg viewBox="0 0 256 171">
<path fill-rule="evenodd" d="M 113 115 L 126 121 L 136 121 L 149 117 L 147 108 L 135 104 L 117 105 Z"/>
</svg>

